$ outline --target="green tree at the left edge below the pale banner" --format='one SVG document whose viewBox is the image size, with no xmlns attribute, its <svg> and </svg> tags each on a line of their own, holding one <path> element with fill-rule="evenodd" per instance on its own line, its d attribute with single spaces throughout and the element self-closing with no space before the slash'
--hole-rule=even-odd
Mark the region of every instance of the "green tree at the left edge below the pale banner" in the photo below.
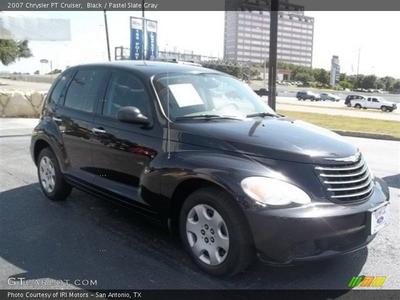
<svg viewBox="0 0 400 300">
<path fill-rule="evenodd" d="M 4 65 L 15 62 L 16 59 L 31 57 L 32 52 L 28 47 L 28 41 L 15 41 L 12 39 L 0 39 L 0 60 Z"/>
</svg>

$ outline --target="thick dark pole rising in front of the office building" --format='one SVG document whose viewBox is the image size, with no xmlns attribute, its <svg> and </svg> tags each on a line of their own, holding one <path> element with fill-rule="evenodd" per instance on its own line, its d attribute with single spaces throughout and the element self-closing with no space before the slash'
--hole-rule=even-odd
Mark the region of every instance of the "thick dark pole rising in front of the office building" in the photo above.
<svg viewBox="0 0 400 300">
<path fill-rule="evenodd" d="M 268 105 L 276 109 L 276 43 L 278 35 L 279 0 L 271 0 L 269 25 Z"/>
</svg>

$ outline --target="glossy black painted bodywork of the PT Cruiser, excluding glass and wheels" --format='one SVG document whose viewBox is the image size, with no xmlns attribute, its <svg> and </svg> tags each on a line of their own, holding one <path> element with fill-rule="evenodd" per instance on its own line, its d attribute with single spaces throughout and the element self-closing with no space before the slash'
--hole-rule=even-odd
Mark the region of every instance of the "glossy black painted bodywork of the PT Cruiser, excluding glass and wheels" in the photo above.
<svg viewBox="0 0 400 300">
<path fill-rule="evenodd" d="M 366 232 L 366 210 L 388 200 L 385 183 L 375 178 L 372 195 L 361 202 L 333 203 L 311 167 L 329 163 L 324 157 L 346 157 L 357 152 L 341 136 L 287 117 L 265 117 L 247 121 L 171 122 L 168 142 L 167 118 L 151 78 L 167 71 L 215 71 L 151 61 L 91 64 L 67 71 L 74 73 L 84 68 L 102 68 L 107 72 L 93 112 L 62 105 L 69 79 L 57 103 L 51 103 L 47 96 L 30 149 L 36 163 L 40 149 L 50 146 L 66 180 L 73 186 L 171 227 L 176 225 L 180 205 L 188 193 L 203 185 L 220 186 L 231 194 L 232 201 L 246 216 L 259 257 L 271 263 L 345 253 L 373 238 Z M 123 123 L 101 114 L 107 80 L 113 71 L 140 80 L 150 98 L 150 125 Z M 93 132 L 92 128 L 105 133 Z M 245 177 L 275 177 L 277 173 L 303 189 L 311 203 L 263 207 L 240 187 Z M 307 247 L 316 240 L 353 232 L 359 238 L 342 248 L 321 247 L 315 251 Z"/>
</svg>

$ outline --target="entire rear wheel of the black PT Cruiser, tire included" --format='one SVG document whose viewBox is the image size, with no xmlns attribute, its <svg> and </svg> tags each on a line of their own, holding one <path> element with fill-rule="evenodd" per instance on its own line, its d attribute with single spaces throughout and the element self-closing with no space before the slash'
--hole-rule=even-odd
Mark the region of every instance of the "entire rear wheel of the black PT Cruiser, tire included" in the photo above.
<svg viewBox="0 0 400 300">
<path fill-rule="evenodd" d="M 37 177 L 43 193 L 50 200 L 64 200 L 72 191 L 59 168 L 57 157 L 50 147 L 42 149 L 37 157 Z"/>
</svg>

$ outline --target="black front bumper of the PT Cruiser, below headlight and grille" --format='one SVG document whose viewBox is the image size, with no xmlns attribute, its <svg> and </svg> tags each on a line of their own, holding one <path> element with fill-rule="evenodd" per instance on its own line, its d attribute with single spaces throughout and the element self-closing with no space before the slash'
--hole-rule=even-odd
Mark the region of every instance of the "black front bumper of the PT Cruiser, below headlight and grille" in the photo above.
<svg viewBox="0 0 400 300">
<path fill-rule="evenodd" d="M 348 253 L 367 245 L 367 210 L 388 201 L 386 184 L 376 178 L 374 192 L 361 203 L 311 202 L 306 206 L 245 211 L 259 258 L 290 264 Z"/>
</svg>

